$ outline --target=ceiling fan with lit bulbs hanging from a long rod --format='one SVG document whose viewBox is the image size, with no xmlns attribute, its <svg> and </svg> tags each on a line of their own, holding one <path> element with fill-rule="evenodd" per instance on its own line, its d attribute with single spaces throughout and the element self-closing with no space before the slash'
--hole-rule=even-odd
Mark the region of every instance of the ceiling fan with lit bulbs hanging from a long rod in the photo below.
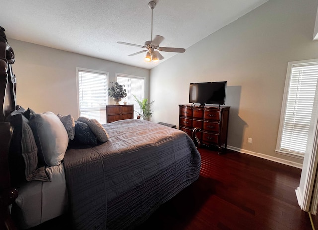
<svg viewBox="0 0 318 230">
<path fill-rule="evenodd" d="M 163 41 L 164 37 L 160 35 L 156 35 L 154 40 L 153 40 L 153 9 L 155 8 L 156 3 L 154 1 L 151 1 L 148 3 L 148 7 L 151 9 L 151 40 L 146 41 L 145 45 L 136 45 L 132 43 L 127 43 L 127 42 L 117 42 L 119 44 L 123 45 L 129 45 L 129 46 L 137 46 L 140 48 L 146 48 L 146 50 L 142 50 L 133 54 L 130 54 L 128 56 L 134 56 L 136 54 L 141 54 L 147 51 L 145 61 L 150 62 L 150 61 L 158 61 L 161 59 L 164 59 L 164 57 L 159 53 L 159 51 L 164 51 L 164 52 L 177 52 L 177 53 L 183 53 L 185 52 L 185 49 L 183 48 L 175 48 L 175 47 L 159 47 L 159 44 Z M 158 51 L 159 50 L 159 51 Z"/>
</svg>

